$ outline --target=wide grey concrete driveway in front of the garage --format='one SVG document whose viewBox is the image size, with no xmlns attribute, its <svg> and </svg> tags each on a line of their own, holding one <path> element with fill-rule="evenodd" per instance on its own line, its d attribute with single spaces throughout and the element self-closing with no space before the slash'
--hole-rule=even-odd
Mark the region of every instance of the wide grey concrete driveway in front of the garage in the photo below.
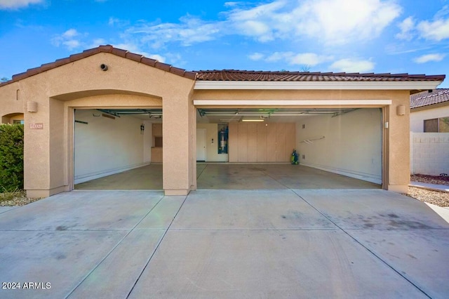
<svg viewBox="0 0 449 299">
<path fill-rule="evenodd" d="M 0 298 L 448 298 L 448 256 L 449 224 L 384 190 L 76 191 L 0 208 Z"/>
</svg>

